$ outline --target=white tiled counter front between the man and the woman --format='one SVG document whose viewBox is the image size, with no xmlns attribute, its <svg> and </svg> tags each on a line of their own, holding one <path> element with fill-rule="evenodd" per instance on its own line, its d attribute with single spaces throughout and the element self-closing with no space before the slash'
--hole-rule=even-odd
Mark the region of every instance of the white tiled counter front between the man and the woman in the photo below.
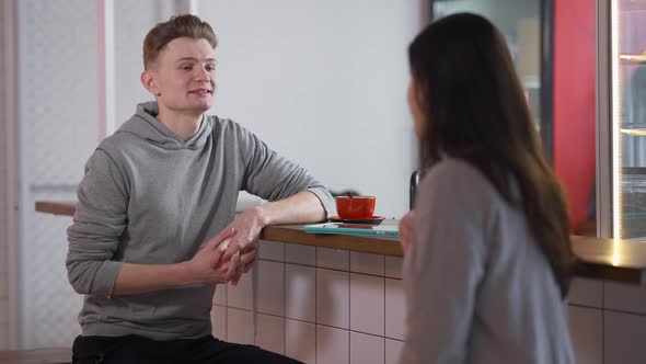
<svg viewBox="0 0 646 364">
<path fill-rule="evenodd" d="M 404 332 L 401 262 L 261 240 L 254 271 L 216 289 L 214 334 L 305 363 L 395 363 Z"/>
</svg>

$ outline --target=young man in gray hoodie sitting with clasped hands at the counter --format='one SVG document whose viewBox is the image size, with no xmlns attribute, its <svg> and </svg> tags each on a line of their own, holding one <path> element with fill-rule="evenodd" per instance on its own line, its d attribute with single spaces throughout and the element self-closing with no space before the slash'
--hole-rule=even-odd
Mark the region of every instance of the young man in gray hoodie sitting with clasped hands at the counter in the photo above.
<svg viewBox="0 0 646 364">
<path fill-rule="evenodd" d="M 263 227 L 322 220 L 333 201 L 256 136 L 205 114 L 216 45 L 193 15 L 154 26 L 141 83 L 157 102 L 138 105 L 85 166 L 66 261 L 85 295 L 74 363 L 295 363 L 215 339 L 211 298 L 249 271 Z M 241 190 L 270 202 L 235 216 Z"/>
</svg>

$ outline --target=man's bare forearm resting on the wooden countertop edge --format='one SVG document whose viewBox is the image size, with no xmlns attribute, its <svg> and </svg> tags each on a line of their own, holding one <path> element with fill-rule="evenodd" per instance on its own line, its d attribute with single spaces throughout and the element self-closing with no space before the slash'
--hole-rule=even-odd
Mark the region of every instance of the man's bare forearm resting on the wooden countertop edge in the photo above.
<svg viewBox="0 0 646 364">
<path fill-rule="evenodd" d="M 263 225 L 305 224 L 325 219 L 325 208 L 319 197 L 301 191 L 291 197 L 256 206 Z"/>
</svg>

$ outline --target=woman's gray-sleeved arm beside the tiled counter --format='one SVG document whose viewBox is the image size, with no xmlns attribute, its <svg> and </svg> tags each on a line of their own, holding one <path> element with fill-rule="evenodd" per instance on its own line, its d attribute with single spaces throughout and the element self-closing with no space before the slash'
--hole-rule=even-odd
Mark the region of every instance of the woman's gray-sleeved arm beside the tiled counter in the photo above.
<svg viewBox="0 0 646 364">
<path fill-rule="evenodd" d="M 419 189 L 404 259 L 402 363 L 462 363 L 484 275 L 482 209 L 466 166 L 438 164 Z"/>
</svg>

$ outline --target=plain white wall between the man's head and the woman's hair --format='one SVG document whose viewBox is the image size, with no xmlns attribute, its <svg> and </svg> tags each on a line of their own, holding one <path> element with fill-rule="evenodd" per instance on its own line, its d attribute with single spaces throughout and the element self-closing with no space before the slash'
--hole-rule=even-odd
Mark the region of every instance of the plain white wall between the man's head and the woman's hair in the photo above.
<svg viewBox="0 0 646 364">
<path fill-rule="evenodd" d="M 219 37 L 212 113 L 249 127 L 333 190 L 408 206 L 416 150 L 406 47 L 423 0 L 199 1 Z"/>
</svg>

